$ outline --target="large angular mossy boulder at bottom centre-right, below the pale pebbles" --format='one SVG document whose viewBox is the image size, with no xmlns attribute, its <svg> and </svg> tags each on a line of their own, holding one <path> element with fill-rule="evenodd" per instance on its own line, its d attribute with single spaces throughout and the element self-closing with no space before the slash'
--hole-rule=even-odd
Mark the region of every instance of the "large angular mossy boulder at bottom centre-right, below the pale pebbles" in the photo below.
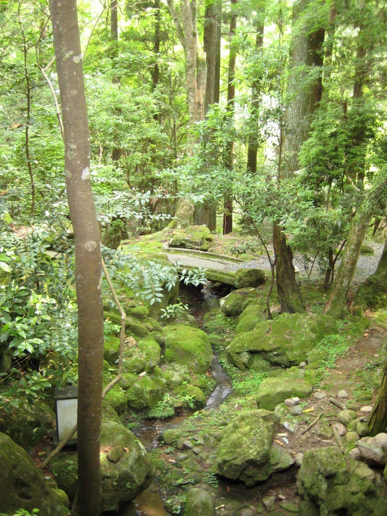
<svg viewBox="0 0 387 516">
<path fill-rule="evenodd" d="M 294 459 L 273 444 L 278 416 L 267 410 L 244 411 L 223 431 L 216 448 L 217 473 L 241 480 L 251 487 L 277 471 L 286 470 Z"/>
</svg>

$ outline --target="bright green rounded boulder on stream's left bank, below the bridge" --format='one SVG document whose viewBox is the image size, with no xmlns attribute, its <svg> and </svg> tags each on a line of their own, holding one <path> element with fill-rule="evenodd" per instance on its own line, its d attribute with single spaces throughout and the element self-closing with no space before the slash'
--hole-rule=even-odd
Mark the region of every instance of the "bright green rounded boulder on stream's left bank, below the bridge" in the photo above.
<svg viewBox="0 0 387 516">
<path fill-rule="evenodd" d="M 212 348 L 203 330 L 182 324 L 166 326 L 164 359 L 189 367 L 194 373 L 205 373 L 211 364 Z"/>
</svg>

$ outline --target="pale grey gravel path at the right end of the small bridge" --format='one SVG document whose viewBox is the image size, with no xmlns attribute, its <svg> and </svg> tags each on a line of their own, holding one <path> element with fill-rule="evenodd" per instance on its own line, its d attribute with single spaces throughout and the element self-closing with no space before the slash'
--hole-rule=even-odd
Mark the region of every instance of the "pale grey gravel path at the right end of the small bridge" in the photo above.
<svg viewBox="0 0 387 516">
<path fill-rule="evenodd" d="M 353 278 L 353 284 L 358 285 L 362 283 L 364 280 L 368 278 L 368 276 L 372 275 L 377 266 L 383 251 L 384 244 L 376 244 L 374 242 L 367 242 L 368 245 L 374 248 L 374 254 L 361 254 L 359 256 L 358 265 L 356 268 L 356 273 Z M 272 249 L 269 249 L 272 252 Z M 304 269 L 302 257 L 299 254 L 294 255 L 293 264 L 299 268 L 300 270 L 300 278 L 306 278 L 308 273 Z M 335 271 L 338 270 L 338 266 L 340 265 L 340 260 L 337 260 L 335 265 Z M 250 262 L 243 262 L 240 264 L 232 264 L 227 267 L 226 270 L 236 270 L 240 268 L 246 269 L 254 269 L 254 268 L 270 268 L 267 257 L 259 256 L 255 260 L 251 260 Z M 324 272 L 321 273 L 318 265 L 313 267 L 311 278 L 317 279 L 320 276 L 324 276 Z"/>
</svg>

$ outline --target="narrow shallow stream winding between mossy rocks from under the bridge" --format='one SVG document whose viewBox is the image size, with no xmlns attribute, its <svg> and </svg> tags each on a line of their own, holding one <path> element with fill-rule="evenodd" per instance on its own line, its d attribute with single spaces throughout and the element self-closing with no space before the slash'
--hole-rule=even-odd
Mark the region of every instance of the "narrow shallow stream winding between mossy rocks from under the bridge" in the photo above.
<svg viewBox="0 0 387 516">
<path fill-rule="evenodd" d="M 183 298 L 183 302 L 190 305 L 189 313 L 195 317 L 200 327 L 203 323 L 204 314 L 214 306 L 217 300 L 217 297 L 206 287 L 204 287 L 200 293 L 197 293 L 195 296 L 196 299 L 194 300 L 192 300 L 192 298 L 185 300 L 183 293 L 181 293 L 181 297 Z M 215 353 L 213 354 L 210 370 L 217 381 L 217 386 L 211 395 L 209 395 L 207 404 L 202 410 L 218 408 L 222 401 L 232 392 L 230 377 L 219 364 L 218 357 Z M 169 428 L 180 426 L 183 421 L 192 414 L 193 412 L 185 412 L 169 420 L 151 421 L 143 427 L 143 431 L 138 435 L 138 438 L 147 451 L 157 448 L 160 446 L 160 434 Z M 164 508 L 163 500 L 156 484 L 152 482 L 148 489 L 137 496 L 137 498 L 121 512 L 121 516 L 169 516 L 169 513 Z"/>
</svg>

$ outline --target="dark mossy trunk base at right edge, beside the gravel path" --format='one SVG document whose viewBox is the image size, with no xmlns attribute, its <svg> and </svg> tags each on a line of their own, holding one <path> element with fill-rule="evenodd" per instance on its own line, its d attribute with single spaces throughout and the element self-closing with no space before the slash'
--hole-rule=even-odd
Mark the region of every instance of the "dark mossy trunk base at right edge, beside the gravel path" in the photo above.
<svg viewBox="0 0 387 516">
<path fill-rule="evenodd" d="M 387 304 L 387 241 L 384 244 L 382 255 L 376 271 L 369 276 L 358 288 L 350 306 L 351 312 L 359 308 L 377 310 Z"/>
</svg>

